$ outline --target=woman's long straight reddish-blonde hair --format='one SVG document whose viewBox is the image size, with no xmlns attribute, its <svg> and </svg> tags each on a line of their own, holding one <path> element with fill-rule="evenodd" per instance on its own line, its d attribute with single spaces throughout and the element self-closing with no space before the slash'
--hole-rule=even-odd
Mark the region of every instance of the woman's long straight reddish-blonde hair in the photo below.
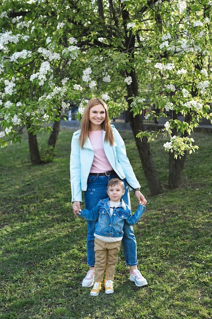
<svg viewBox="0 0 212 319">
<path fill-rule="evenodd" d="M 88 101 L 82 116 L 81 133 L 79 137 L 79 144 L 81 148 L 83 148 L 83 145 L 88 138 L 88 131 L 90 128 L 89 111 L 91 108 L 95 107 L 95 105 L 97 104 L 102 104 L 105 109 L 105 120 L 102 123 L 102 129 L 105 130 L 105 142 L 109 142 L 110 145 L 114 144 L 114 136 L 113 136 L 112 128 L 110 126 L 110 119 L 108 115 L 107 105 L 101 98 L 94 97 Z"/>
</svg>

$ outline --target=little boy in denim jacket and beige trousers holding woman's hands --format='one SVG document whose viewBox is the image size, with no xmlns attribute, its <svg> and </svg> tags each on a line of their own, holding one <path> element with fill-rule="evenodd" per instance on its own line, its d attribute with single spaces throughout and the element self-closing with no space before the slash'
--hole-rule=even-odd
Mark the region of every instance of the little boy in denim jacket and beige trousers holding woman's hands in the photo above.
<svg viewBox="0 0 212 319">
<path fill-rule="evenodd" d="M 111 178 L 107 184 L 108 198 L 98 202 L 92 210 L 83 209 L 79 215 L 87 220 L 97 220 L 95 230 L 95 277 L 90 296 L 98 296 L 106 268 L 105 294 L 112 294 L 115 265 L 123 238 L 124 223 L 135 225 L 145 211 L 139 204 L 134 215 L 123 201 L 125 185 L 119 178 Z"/>
</svg>

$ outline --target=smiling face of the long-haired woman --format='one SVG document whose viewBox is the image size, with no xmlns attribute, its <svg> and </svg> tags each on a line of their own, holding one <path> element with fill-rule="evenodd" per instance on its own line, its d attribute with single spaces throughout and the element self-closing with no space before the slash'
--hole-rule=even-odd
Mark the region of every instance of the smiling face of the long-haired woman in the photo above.
<svg viewBox="0 0 212 319">
<path fill-rule="evenodd" d="M 97 104 L 89 110 L 90 130 L 102 129 L 105 120 L 105 108 L 102 104 Z"/>
</svg>

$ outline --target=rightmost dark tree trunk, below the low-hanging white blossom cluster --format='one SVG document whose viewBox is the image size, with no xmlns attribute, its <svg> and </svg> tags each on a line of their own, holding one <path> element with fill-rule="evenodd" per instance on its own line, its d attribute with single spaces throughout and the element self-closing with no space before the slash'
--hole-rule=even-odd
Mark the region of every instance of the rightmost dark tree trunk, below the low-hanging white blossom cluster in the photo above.
<svg viewBox="0 0 212 319">
<path fill-rule="evenodd" d="M 181 183 L 181 176 L 186 162 L 186 153 L 181 158 L 174 158 L 173 153 L 169 153 L 169 188 L 175 189 Z"/>
</svg>

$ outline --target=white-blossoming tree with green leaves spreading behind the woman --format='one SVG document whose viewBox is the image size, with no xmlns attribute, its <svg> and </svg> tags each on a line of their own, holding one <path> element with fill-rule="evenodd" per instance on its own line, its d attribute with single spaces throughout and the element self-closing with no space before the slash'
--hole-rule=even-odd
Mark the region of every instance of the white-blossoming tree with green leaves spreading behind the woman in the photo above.
<svg viewBox="0 0 212 319">
<path fill-rule="evenodd" d="M 44 123 L 59 120 L 69 103 L 81 109 L 100 96 L 111 117 L 128 109 L 152 194 L 162 187 L 148 142 L 167 136 L 169 186 L 177 187 L 186 151 L 197 148 L 191 133 L 211 119 L 211 7 L 209 0 L 4 0 L 0 142 L 18 141 L 26 126 L 34 149 Z M 165 117 L 164 129 L 145 132 L 144 110 L 146 120 Z"/>
</svg>

